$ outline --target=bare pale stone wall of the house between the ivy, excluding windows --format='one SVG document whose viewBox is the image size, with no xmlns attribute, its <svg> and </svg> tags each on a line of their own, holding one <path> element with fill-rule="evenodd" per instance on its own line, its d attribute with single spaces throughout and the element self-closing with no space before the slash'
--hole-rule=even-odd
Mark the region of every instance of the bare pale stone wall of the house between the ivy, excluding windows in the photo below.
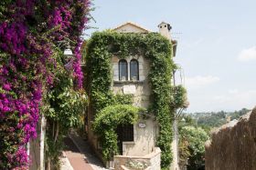
<svg viewBox="0 0 256 170">
<path fill-rule="evenodd" d="M 133 105 L 147 108 L 150 104 L 151 87 L 149 85 L 148 73 L 149 61 L 144 56 L 134 55 L 125 58 L 128 63 L 128 80 L 119 80 L 119 58 L 112 56 L 112 91 L 114 94 L 132 94 Z M 130 80 L 130 62 L 136 59 L 139 63 L 139 80 Z M 142 128 L 139 124 L 144 124 Z M 123 155 L 142 156 L 150 154 L 155 148 L 155 140 L 158 132 L 158 125 L 155 117 L 139 120 L 133 125 L 133 142 L 123 142 Z"/>
</svg>

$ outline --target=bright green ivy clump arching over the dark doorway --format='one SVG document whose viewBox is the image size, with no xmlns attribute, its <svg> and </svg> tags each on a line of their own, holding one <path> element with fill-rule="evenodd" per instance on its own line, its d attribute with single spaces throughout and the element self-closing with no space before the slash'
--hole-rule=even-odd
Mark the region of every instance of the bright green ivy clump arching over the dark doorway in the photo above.
<svg viewBox="0 0 256 170">
<path fill-rule="evenodd" d="M 110 160 L 119 154 L 116 128 L 118 125 L 131 125 L 138 120 L 144 109 L 133 106 L 133 95 L 113 95 L 109 92 L 104 98 L 97 95 L 99 105 L 108 105 L 101 109 L 93 122 L 93 130 L 99 136 L 103 158 Z"/>
</svg>

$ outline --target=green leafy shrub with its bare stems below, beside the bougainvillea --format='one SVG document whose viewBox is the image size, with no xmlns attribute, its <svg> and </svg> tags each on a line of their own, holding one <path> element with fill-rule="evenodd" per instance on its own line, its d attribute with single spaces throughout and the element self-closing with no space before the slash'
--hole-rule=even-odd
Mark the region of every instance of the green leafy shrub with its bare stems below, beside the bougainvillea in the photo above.
<svg viewBox="0 0 256 170">
<path fill-rule="evenodd" d="M 47 118 L 46 155 L 52 169 L 59 169 L 59 155 L 64 148 L 63 139 L 71 127 L 81 125 L 86 98 L 76 91 L 72 78 L 60 71 L 55 86 L 44 96 L 41 112 Z"/>
</svg>

